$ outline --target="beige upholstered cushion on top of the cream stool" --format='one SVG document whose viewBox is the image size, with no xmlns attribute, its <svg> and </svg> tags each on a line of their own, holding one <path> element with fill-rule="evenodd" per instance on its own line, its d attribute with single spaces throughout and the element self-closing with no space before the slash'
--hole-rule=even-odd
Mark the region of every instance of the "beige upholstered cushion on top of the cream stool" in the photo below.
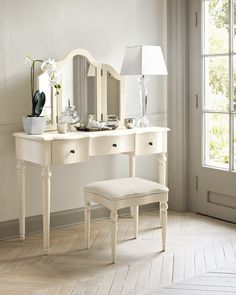
<svg viewBox="0 0 236 295">
<path fill-rule="evenodd" d="M 167 193 L 169 189 L 157 182 L 139 177 L 127 177 L 93 182 L 85 186 L 84 191 L 102 196 L 108 200 L 121 200 Z"/>
</svg>

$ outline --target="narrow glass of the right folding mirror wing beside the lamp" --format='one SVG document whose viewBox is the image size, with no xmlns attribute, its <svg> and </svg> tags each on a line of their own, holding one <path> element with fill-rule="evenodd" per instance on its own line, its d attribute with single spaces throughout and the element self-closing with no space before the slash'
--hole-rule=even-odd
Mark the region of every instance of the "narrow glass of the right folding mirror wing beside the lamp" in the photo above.
<svg viewBox="0 0 236 295">
<path fill-rule="evenodd" d="M 107 72 L 107 115 L 120 119 L 120 81 Z"/>
</svg>

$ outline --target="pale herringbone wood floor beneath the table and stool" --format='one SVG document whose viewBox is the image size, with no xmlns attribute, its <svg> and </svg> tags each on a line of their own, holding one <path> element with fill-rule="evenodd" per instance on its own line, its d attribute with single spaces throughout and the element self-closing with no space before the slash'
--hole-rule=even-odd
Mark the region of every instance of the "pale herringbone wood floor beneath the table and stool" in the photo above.
<svg viewBox="0 0 236 295">
<path fill-rule="evenodd" d="M 158 215 L 140 214 L 137 240 L 132 219 L 119 219 L 115 265 L 108 220 L 92 223 L 89 251 L 82 224 L 53 230 L 48 256 L 42 234 L 1 241 L 0 294 L 236 294 L 236 225 L 169 212 L 162 253 Z"/>
</svg>

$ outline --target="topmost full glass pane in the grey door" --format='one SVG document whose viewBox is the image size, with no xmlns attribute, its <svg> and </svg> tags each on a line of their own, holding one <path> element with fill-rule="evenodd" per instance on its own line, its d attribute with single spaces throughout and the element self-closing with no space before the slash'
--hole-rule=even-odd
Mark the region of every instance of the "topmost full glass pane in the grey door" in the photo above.
<svg viewBox="0 0 236 295">
<path fill-rule="evenodd" d="M 229 50 L 229 0 L 205 0 L 205 52 L 226 53 Z"/>
</svg>

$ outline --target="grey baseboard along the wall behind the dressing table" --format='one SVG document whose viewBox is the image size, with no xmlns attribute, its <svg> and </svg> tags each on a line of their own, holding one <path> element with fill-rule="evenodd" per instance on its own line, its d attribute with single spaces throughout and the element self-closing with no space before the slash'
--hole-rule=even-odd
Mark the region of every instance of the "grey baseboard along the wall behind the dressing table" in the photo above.
<svg viewBox="0 0 236 295">
<path fill-rule="evenodd" d="M 150 211 L 158 208 L 158 203 L 140 206 L 140 212 Z M 119 210 L 119 216 L 127 215 L 129 208 Z M 110 211 L 101 206 L 95 205 L 91 209 L 91 220 L 109 218 Z M 26 217 L 26 233 L 42 232 L 42 215 Z M 84 223 L 84 208 L 76 208 L 54 212 L 50 214 L 51 229 Z M 0 240 L 16 238 L 19 236 L 19 220 L 13 219 L 0 222 Z"/>
</svg>

